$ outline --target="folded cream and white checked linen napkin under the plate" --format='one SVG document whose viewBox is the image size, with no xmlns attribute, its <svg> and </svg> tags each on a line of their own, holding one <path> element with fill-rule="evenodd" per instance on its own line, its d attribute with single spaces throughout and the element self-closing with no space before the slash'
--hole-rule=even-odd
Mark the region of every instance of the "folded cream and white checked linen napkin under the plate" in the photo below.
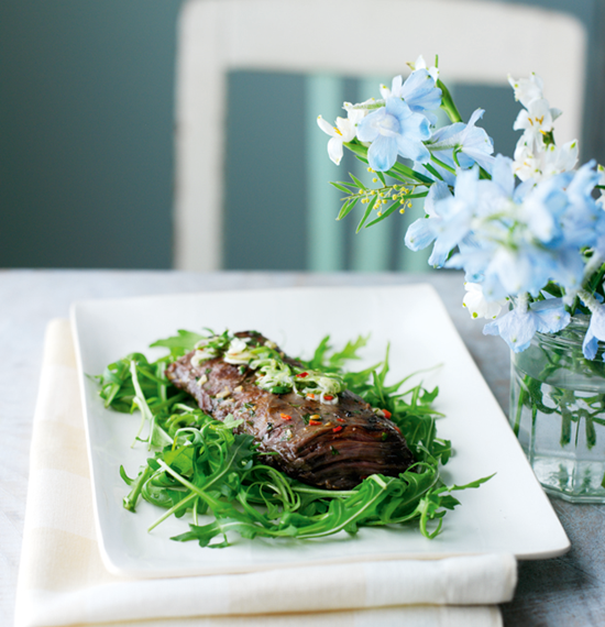
<svg viewBox="0 0 605 627">
<path fill-rule="evenodd" d="M 201 550 L 191 544 L 191 550 Z M 67 320 L 47 329 L 30 462 L 15 626 L 499 626 L 509 554 L 359 562 L 136 580 L 96 539 L 80 391 Z"/>
</svg>

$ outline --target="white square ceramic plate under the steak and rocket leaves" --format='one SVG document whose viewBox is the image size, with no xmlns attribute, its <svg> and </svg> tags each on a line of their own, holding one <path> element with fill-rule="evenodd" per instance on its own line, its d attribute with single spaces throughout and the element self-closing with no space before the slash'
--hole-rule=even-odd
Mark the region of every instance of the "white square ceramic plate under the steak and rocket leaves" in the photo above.
<svg viewBox="0 0 605 627">
<path fill-rule="evenodd" d="M 97 531 L 107 568 L 133 576 L 182 576 L 246 572 L 273 566 L 405 558 L 509 552 L 520 559 L 560 556 L 569 540 L 508 422 L 458 336 L 439 296 L 429 285 L 363 288 L 294 288 L 154 296 L 77 302 L 72 311 L 84 391 Z M 227 549 L 200 549 L 169 538 L 188 529 L 187 519 L 168 519 L 147 534 L 163 510 L 140 503 L 122 507 L 128 487 L 120 464 L 135 475 L 148 455 L 130 444 L 139 416 L 103 408 L 86 374 L 131 352 L 165 354 L 150 343 L 177 329 L 255 329 L 288 354 L 310 356 L 330 334 L 337 346 L 371 334 L 364 366 L 384 358 L 391 342 L 391 381 L 420 369 L 427 387 L 439 385 L 440 437 L 451 439 L 454 457 L 443 469 L 448 484 L 462 485 L 497 473 L 479 490 L 457 493 L 461 505 L 446 516 L 433 540 L 417 528 L 362 528 L 322 540 L 239 540 Z"/>
</svg>

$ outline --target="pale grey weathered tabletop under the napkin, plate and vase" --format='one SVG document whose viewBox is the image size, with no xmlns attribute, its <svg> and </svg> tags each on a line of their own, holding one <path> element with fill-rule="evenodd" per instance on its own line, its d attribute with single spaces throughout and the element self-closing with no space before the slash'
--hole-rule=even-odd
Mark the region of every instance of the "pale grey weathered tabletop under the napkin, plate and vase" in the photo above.
<svg viewBox="0 0 605 627">
<path fill-rule="evenodd" d="M 362 286 L 431 283 L 439 292 L 466 348 L 505 411 L 509 355 L 498 338 L 462 308 L 457 272 L 426 274 L 308 274 L 268 272 L 0 271 L 0 624 L 12 625 L 23 535 L 29 451 L 46 323 L 68 317 L 69 305 L 89 298 L 296 286 Z M 605 508 L 552 501 L 571 551 L 557 559 L 521 562 L 512 603 L 502 606 L 506 626 L 605 625 Z"/>
</svg>

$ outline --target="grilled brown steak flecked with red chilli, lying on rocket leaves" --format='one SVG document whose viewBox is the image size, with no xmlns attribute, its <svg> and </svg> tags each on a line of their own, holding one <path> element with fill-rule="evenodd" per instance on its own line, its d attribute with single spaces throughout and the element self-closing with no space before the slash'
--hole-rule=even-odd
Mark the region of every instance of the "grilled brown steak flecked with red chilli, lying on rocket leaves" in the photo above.
<svg viewBox="0 0 605 627">
<path fill-rule="evenodd" d="M 266 342 L 252 331 L 235 337 L 253 344 Z M 223 420 L 229 414 L 242 418 L 238 431 L 252 435 L 260 451 L 273 452 L 266 462 L 294 479 L 349 490 L 374 473 L 397 476 L 415 462 L 398 428 L 349 391 L 339 395 L 337 404 L 295 392 L 274 394 L 256 385 L 257 371 L 227 363 L 223 355 L 198 365 L 195 353 L 170 364 L 168 378 L 213 418 Z"/>
</svg>

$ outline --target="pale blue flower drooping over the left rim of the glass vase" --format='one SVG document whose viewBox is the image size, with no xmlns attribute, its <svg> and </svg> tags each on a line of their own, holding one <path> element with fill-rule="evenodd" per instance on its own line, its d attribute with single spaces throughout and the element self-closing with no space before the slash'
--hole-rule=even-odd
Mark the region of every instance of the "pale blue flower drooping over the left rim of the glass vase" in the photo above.
<svg viewBox="0 0 605 627">
<path fill-rule="evenodd" d="M 483 328 L 486 336 L 501 336 L 510 349 L 520 353 L 531 343 L 537 331 L 556 333 L 564 329 L 571 321 L 561 298 L 549 298 L 531 302 L 520 297 L 517 307 Z"/>
</svg>

